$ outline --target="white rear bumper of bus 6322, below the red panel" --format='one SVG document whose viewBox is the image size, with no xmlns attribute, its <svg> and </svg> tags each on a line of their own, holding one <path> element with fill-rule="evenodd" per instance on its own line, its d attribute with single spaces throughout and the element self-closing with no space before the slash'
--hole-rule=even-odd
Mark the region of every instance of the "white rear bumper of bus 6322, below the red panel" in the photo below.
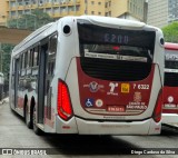
<svg viewBox="0 0 178 158">
<path fill-rule="evenodd" d="M 79 135 L 159 135 L 161 124 L 151 118 L 144 121 L 110 122 L 76 118 Z"/>
</svg>

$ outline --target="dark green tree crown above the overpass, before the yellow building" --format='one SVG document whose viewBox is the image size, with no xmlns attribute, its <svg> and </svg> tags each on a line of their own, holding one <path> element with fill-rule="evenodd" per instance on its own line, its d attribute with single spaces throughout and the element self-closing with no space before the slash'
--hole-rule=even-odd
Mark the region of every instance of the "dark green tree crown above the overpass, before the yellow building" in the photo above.
<svg viewBox="0 0 178 158">
<path fill-rule="evenodd" d="M 29 29 L 36 30 L 43 24 L 53 21 L 47 12 L 40 9 L 32 10 L 31 13 L 24 13 L 17 19 L 10 19 L 8 21 L 9 28 Z"/>
</svg>

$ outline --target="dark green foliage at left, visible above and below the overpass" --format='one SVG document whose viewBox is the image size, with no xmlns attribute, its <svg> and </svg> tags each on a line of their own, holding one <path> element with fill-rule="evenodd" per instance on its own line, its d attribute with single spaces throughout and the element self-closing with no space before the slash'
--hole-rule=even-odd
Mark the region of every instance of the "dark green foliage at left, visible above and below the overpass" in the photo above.
<svg viewBox="0 0 178 158">
<path fill-rule="evenodd" d="M 22 14 L 18 19 L 10 19 L 8 21 L 9 28 L 18 28 L 18 29 L 28 29 L 28 30 L 36 30 L 43 24 L 53 21 L 52 18 L 42 10 L 36 9 L 31 11 L 31 13 Z M 8 73 L 10 69 L 10 55 L 14 46 L 12 45 L 1 45 L 1 52 L 2 52 L 2 72 L 8 80 Z"/>
</svg>

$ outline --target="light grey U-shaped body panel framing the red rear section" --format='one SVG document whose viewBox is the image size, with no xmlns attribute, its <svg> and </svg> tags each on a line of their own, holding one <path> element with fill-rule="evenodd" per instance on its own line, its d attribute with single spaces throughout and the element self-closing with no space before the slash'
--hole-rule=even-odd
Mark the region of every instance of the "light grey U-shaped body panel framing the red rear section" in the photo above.
<svg viewBox="0 0 178 158">
<path fill-rule="evenodd" d="M 154 98 L 151 100 L 149 100 L 149 105 L 148 105 L 148 110 L 146 110 L 145 112 L 141 112 L 139 115 L 111 115 L 107 117 L 107 115 L 92 115 L 92 113 L 89 113 L 87 112 L 82 106 L 81 106 L 81 102 L 80 102 L 80 95 L 83 92 L 83 91 L 80 91 L 79 90 L 79 78 L 80 76 L 77 76 L 78 75 L 78 70 L 77 70 L 77 60 L 73 58 L 71 63 L 70 63 L 70 67 L 69 67 L 69 71 L 68 71 L 68 75 L 67 75 L 67 85 L 69 87 L 69 90 L 70 90 L 70 96 L 71 96 L 71 102 L 73 105 L 73 112 L 75 115 L 79 116 L 79 117 L 83 117 L 83 118 L 98 118 L 98 119 L 119 119 L 119 120 L 130 120 L 130 119 L 136 119 L 136 120 L 139 120 L 139 119 L 146 119 L 146 118 L 150 118 L 152 116 L 152 112 L 154 112 L 154 107 L 156 105 L 156 100 L 157 100 L 157 97 L 158 97 L 158 93 L 161 89 L 161 83 L 160 83 L 160 78 L 159 78 L 159 69 L 157 66 L 155 66 L 155 78 L 152 80 L 152 86 L 157 86 L 158 88 L 155 89 L 155 90 L 151 90 L 151 95 L 150 95 L 150 98 Z M 72 80 L 71 80 L 72 78 Z M 81 78 L 83 80 L 83 78 Z M 138 90 L 138 89 L 137 89 Z M 137 91 L 136 90 L 136 91 Z M 147 93 L 147 90 L 145 91 L 145 93 Z M 134 96 L 132 96 L 134 97 Z M 131 97 L 131 99 L 134 99 Z M 109 98 L 110 99 L 110 98 Z M 113 100 L 113 99 L 112 99 Z M 127 105 L 125 105 L 127 106 Z"/>
</svg>

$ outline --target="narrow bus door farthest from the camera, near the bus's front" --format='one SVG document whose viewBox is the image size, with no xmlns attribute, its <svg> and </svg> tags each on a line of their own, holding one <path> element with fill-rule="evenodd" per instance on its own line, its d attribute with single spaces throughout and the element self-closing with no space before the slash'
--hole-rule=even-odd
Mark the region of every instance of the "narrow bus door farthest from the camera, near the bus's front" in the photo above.
<svg viewBox="0 0 178 158">
<path fill-rule="evenodd" d="M 20 58 L 14 60 L 14 108 L 18 107 Z"/>
</svg>

